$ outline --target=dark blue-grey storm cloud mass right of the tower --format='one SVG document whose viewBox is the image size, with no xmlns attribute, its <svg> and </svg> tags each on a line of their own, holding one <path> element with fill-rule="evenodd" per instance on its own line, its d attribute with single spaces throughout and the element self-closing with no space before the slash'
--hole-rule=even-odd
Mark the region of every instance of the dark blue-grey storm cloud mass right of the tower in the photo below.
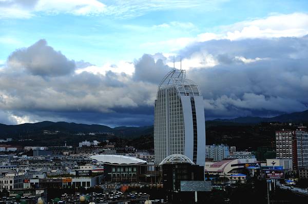
<svg viewBox="0 0 308 204">
<path fill-rule="evenodd" d="M 182 54 L 212 54 L 218 65 L 191 69 L 208 117 L 281 114 L 308 108 L 308 37 L 213 40 L 187 47 Z M 251 60 L 251 61 L 249 61 Z M 259 112 L 259 114 L 258 114 Z"/>
</svg>

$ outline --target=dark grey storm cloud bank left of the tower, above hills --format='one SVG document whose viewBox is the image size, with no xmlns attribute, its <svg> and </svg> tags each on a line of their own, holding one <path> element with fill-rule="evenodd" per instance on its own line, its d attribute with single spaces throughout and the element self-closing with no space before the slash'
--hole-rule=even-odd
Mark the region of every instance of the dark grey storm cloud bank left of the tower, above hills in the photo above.
<svg viewBox="0 0 308 204">
<path fill-rule="evenodd" d="M 73 71 L 74 62 L 47 46 L 45 40 L 13 52 L 0 70 L 0 109 L 4 111 L 0 120 L 112 125 L 152 121 L 139 108 L 152 108 L 155 84 L 135 81 L 125 73 Z"/>
</svg>

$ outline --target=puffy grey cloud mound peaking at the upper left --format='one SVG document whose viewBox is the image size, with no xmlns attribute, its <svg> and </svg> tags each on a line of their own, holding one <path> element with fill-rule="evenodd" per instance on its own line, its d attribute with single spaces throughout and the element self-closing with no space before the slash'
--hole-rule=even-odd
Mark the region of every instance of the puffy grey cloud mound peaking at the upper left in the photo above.
<svg viewBox="0 0 308 204">
<path fill-rule="evenodd" d="M 75 62 L 68 60 L 61 52 L 47 46 L 41 39 L 29 48 L 16 50 L 8 58 L 9 66 L 17 69 L 26 69 L 33 75 L 61 76 L 72 73 Z"/>
</svg>

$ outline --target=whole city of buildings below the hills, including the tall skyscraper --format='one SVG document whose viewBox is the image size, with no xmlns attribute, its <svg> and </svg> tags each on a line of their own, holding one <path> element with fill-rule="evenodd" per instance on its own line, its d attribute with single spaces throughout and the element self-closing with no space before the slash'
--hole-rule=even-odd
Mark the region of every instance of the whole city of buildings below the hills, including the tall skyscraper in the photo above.
<svg viewBox="0 0 308 204">
<path fill-rule="evenodd" d="M 185 75 L 185 70 L 173 69 L 159 85 L 150 149 L 119 146 L 112 140 L 24 146 L 32 139 L 0 133 L 0 202 L 307 201 L 308 129 L 300 123 L 277 123 L 273 149 L 206 144 L 203 98 Z M 59 133 L 44 130 L 42 135 Z M 87 135 L 116 136 L 90 131 L 74 137 Z M 18 145 L 11 144 L 16 141 Z"/>
</svg>

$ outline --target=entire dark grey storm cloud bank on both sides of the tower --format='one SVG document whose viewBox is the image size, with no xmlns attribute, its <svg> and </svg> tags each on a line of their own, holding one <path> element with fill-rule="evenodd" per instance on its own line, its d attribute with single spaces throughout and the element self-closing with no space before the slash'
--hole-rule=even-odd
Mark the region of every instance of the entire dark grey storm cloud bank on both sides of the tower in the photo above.
<svg viewBox="0 0 308 204">
<path fill-rule="evenodd" d="M 209 55 L 216 61 L 213 67 L 187 70 L 187 78 L 200 86 L 207 119 L 307 109 L 307 36 L 211 40 L 192 44 L 179 54 L 191 64 L 206 62 Z M 134 62 L 132 76 L 111 71 L 77 74 L 73 61 L 40 40 L 13 52 L 0 70 L 0 122 L 151 125 L 158 84 L 170 71 L 167 61 L 172 59 L 160 53 L 145 54 Z"/>
</svg>

